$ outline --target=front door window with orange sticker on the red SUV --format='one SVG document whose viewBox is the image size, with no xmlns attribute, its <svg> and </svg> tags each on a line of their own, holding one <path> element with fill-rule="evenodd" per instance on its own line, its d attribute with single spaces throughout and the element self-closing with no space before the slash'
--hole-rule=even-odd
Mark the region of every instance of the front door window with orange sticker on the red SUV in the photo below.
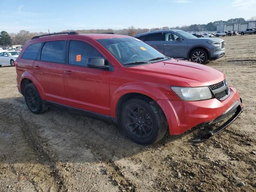
<svg viewBox="0 0 256 192">
<path fill-rule="evenodd" d="M 93 46 L 83 41 L 71 40 L 68 51 L 68 64 L 87 66 L 90 57 L 102 57 Z"/>
</svg>

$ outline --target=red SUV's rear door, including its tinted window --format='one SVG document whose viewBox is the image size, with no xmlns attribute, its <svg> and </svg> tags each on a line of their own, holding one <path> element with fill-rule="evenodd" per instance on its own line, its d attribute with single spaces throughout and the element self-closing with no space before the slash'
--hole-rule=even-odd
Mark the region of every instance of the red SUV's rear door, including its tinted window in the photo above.
<svg viewBox="0 0 256 192">
<path fill-rule="evenodd" d="M 33 64 L 33 73 L 44 89 L 46 100 L 65 105 L 62 68 L 65 63 L 66 40 L 46 40 L 42 45 L 39 59 Z"/>
</svg>

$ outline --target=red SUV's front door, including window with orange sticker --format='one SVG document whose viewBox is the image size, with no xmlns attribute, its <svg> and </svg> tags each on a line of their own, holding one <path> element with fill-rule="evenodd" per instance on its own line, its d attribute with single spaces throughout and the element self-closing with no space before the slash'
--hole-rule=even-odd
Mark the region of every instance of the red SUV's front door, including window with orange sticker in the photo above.
<svg viewBox="0 0 256 192">
<path fill-rule="evenodd" d="M 90 57 L 106 60 L 106 55 L 86 40 L 70 40 L 68 43 L 68 64 L 63 66 L 68 106 L 109 116 L 111 72 L 87 67 Z"/>
</svg>

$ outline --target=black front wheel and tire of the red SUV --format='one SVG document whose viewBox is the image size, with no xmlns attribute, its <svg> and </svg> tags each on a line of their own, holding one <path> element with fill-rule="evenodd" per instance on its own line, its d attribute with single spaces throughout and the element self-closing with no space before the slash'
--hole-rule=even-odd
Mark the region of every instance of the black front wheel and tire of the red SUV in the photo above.
<svg viewBox="0 0 256 192">
<path fill-rule="evenodd" d="M 128 137 L 142 145 L 158 142 L 168 128 L 164 113 L 158 104 L 140 98 L 128 100 L 122 106 L 121 123 Z"/>
</svg>

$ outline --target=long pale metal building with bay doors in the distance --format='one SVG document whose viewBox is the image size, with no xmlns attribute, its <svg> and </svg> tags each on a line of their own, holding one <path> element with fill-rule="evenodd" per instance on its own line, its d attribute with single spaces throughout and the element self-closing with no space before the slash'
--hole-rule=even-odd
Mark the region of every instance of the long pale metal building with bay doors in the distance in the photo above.
<svg viewBox="0 0 256 192">
<path fill-rule="evenodd" d="M 236 23 L 225 23 L 217 25 L 217 32 L 219 31 L 234 31 L 240 32 L 245 31 L 249 28 L 256 28 L 256 21 L 245 21 Z"/>
</svg>

